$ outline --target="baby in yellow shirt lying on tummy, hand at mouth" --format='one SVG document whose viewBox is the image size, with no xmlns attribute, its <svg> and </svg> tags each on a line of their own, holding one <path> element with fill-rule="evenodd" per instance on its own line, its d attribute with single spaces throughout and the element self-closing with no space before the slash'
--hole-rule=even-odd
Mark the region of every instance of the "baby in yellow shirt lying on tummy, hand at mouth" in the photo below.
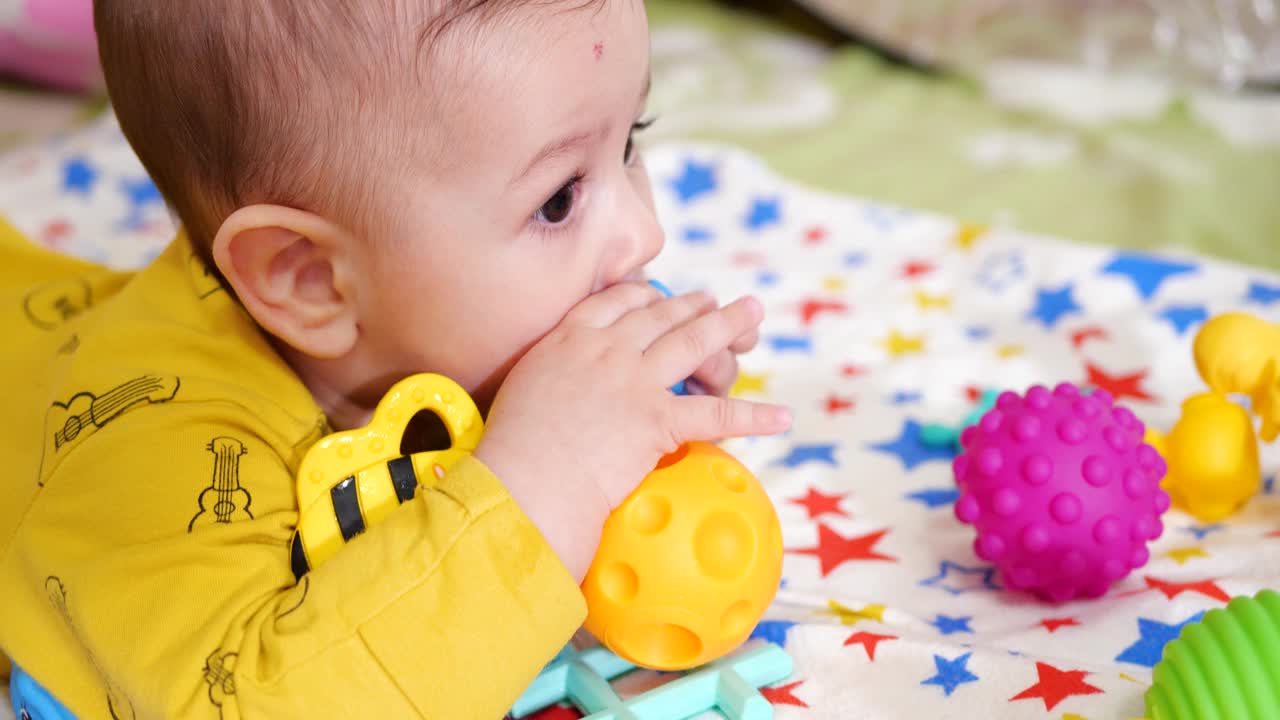
<svg viewBox="0 0 1280 720">
<path fill-rule="evenodd" d="M 756 300 L 644 282 L 641 0 L 95 5 L 183 231 L 120 274 L 0 228 L 0 676 L 82 719 L 500 716 L 658 459 L 790 424 L 724 397 Z M 303 454 L 422 372 L 474 457 L 297 580 Z"/>
</svg>

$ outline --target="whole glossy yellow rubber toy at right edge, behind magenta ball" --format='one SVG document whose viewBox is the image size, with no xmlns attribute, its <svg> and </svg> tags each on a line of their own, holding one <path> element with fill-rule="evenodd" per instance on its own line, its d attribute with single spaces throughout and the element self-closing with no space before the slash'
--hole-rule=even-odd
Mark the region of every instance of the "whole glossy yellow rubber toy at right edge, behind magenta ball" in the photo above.
<svg viewBox="0 0 1280 720">
<path fill-rule="evenodd" d="M 1258 492 L 1258 434 L 1266 442 L 1280 434 L 1280 325 L 1244 313 L 1219 315 L 1197 333 L 1193 354 L 1211 392 L 1188 398 L 1169 434 L 1148 430 L 1147 442 L 1169 464 L 1164 486 L 1174 505 L 1212 523 Z M 1229 395 L 1252 400 L 1260 433 Z"/>
</svg>

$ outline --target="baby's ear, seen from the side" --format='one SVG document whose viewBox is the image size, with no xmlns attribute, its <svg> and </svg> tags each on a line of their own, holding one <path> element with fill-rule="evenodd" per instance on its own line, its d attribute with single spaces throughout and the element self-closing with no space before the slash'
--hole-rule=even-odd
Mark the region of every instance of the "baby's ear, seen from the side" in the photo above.
<svg viewBox="0 0 1280 720">
<path fill-rule="evenodd" d="M 250 315 L 317 359 L 347 355 L 358 337 L 349 258 L 355 238 L 314 213 L 241 208 L 214 238 L 214 263 Z"/>
</svg>

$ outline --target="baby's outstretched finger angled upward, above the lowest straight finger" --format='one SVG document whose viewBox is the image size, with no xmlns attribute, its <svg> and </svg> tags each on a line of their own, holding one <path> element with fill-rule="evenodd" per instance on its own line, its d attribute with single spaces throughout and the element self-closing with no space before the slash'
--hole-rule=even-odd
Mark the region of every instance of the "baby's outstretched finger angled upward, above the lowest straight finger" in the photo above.
<svg viewBox="0 0 1280 720">
<path fill-rule="evenodd" d="M 645 351 L 645 360 L 655 379 L 675 384 L 759 325 L 763 318 L 760 301 L 744 297 L 668 332 Z"/>
</svg>

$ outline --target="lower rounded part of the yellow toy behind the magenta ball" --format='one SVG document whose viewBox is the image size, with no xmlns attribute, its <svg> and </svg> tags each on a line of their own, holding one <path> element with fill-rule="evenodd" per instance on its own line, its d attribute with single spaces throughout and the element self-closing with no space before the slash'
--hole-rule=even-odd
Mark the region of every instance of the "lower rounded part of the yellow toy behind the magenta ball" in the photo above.
<svg viewBox="0 0 1280 720">
<path fill-rule="evenodd" d="M 1235 512 L 1262 484 L 1253 419 L 1221 395 L 1187 398 L 1172 430 L 1148 429 L 1147 442 L 1169 464 L 1162 486 L 1174 505 L 1202 523 Z"/>
</svg>

